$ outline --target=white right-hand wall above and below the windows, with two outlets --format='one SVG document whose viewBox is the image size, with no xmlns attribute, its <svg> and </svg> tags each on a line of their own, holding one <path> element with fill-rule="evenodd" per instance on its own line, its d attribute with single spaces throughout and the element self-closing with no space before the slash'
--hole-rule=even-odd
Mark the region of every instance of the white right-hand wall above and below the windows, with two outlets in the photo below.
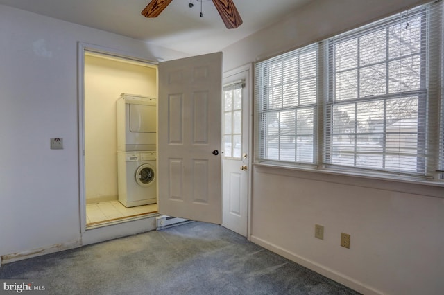
<svg viewBox="0 0 444 295">
<path fill-rule="evenodd" d="M 225 69 L 421 1 L 315 0 L 225 48 Z M 250 238 L 366 294 L 444 294 L 444 188 L 253 166 Z M 325 226 L 324 240 L 314 225 Z M 340 244 L 341 232 L 351 247 Z"/>
</svg>

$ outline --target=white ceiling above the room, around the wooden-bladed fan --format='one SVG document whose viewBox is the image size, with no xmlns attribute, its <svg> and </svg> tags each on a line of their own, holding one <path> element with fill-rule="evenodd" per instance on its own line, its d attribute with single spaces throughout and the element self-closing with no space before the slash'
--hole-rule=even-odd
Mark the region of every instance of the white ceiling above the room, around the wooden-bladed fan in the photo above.
<svg viewBox="0 0 444 295">
<path fill-rule="evenodd" d="M 0 0 L 0 4 L 141 39 L 198 55 L 226 46 L 270 26 L 311 0 L 234 0 L 244 24 L 225 28 L 212 1 L 174 0 L 155 19 L 141 15 L 150 0 Z M 194 8 L 189 8 L 192 1 Z"/>
</svg>

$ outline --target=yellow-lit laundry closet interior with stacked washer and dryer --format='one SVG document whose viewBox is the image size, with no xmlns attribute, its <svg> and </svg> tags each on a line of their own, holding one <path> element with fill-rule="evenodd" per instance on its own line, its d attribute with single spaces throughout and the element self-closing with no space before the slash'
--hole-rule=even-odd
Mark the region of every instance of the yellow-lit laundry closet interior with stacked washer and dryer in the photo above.
<svg viewBox="0 0 444 295">
<path fill-rule="evenodd" d="M 84 84 L 87 226 L 157 212 L 157 66 L 85 52 Z M 136 129 L 136 135 L 128 138 L 125 128 Z M 128 139 L 137 144 L 137 134 L 148 136 L 149 145 L 123 143 Z M 133 186 L 134 174 L 140 185 Z M 148 197 L 142 196 L 144 192 L 149 193 Z"/>
</svg>

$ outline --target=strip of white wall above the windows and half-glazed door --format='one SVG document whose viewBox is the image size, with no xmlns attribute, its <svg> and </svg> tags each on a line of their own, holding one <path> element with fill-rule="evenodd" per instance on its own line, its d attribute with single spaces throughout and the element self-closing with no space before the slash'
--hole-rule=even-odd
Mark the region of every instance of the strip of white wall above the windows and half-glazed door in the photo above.
<svg viewBox="0 0 444 295">
<path fill-rule="evenodd" d="M 311 44 L 418 3 L 427 1 L 313 0 L 278 24 L 223 49 L 224 71 Z"/>
</svg>

